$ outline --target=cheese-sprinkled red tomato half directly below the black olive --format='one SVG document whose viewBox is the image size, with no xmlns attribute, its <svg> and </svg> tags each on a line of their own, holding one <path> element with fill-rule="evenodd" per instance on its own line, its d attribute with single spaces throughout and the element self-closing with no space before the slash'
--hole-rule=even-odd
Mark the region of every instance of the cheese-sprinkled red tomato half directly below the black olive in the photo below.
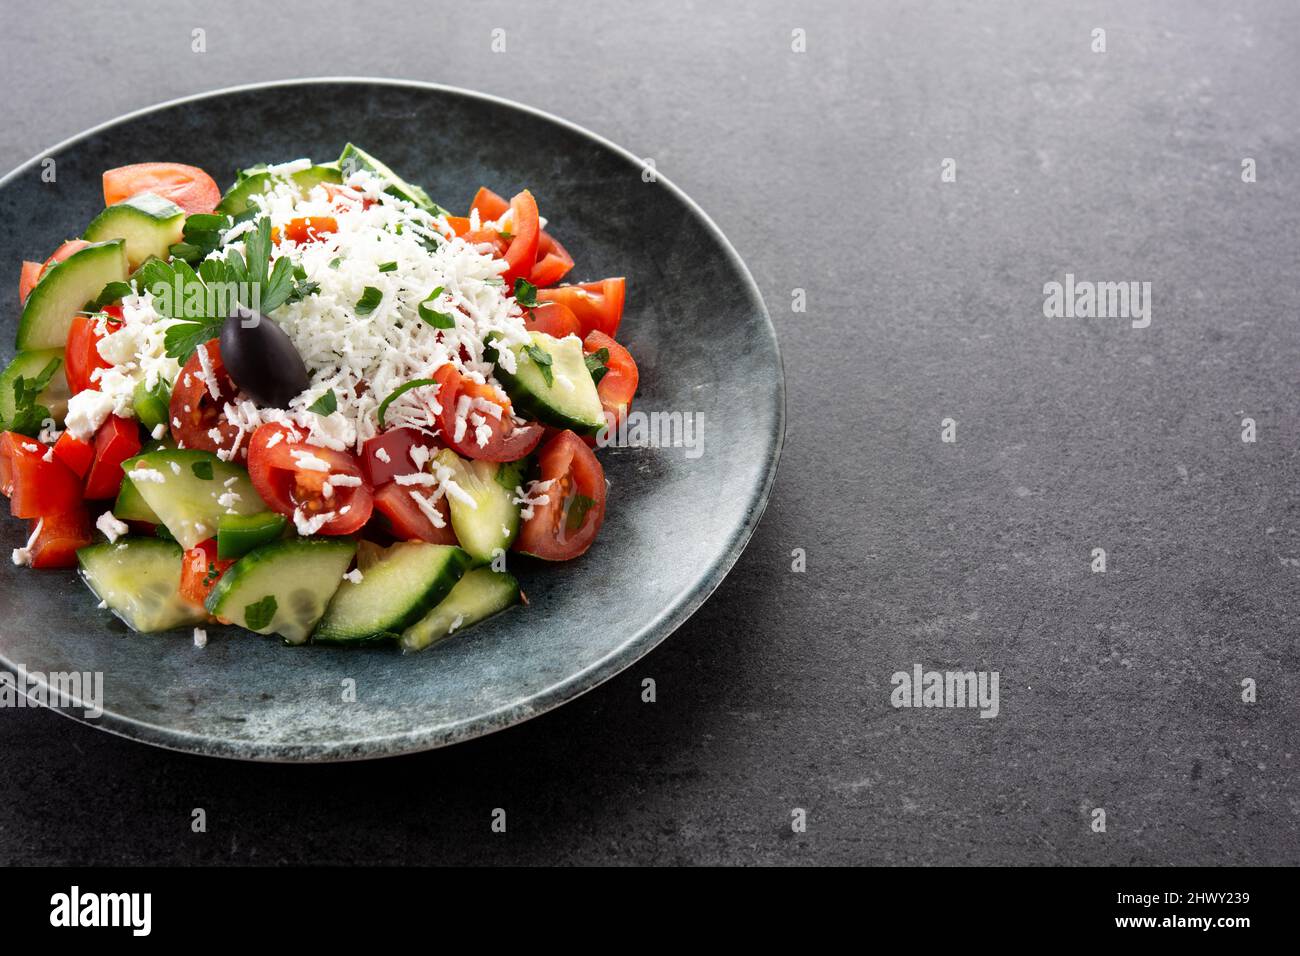
<svg viewBox="0 0 1300 956">
<path fill-rule="evenodd" d="M 360 463 L 346 451 L 308 445 L 300 437 L 281 424 L 252 433 L 248 477 L 254 488 L 272 510 L 295 523 L 321 519 L 316 533 L 351 535 L 370 519 L 374 503 Z"/>
</svg>

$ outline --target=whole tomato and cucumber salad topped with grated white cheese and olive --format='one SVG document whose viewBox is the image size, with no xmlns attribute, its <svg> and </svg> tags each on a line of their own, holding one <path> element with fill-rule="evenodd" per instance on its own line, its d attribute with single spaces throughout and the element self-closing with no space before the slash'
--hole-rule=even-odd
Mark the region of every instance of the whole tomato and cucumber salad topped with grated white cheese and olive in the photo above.
<svg viewBox="0 0 1300 956">
<path fill-rule="evenodd" d="M 510 551 L 593 544 L 594 447 L 628 412 L 625 282 L 524 190 L 452 216 L 365 151 L 104 173 L 22 265 L 0 373 L 16 564 L 79 567 L 140 632 L 430 644 L 524 602 Z"/>
</svg>

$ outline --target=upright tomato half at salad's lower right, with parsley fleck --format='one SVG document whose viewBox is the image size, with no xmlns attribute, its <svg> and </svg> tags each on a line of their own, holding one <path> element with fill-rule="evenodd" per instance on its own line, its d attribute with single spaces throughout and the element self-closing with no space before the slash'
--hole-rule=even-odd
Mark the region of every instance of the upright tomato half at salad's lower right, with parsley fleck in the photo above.
<svg viewBox="0 0 1300 956">
<path fill-rule="evenodd" d="M 604 470 L 573 432 L 560 432 L 538 455 L 545 505 L 519 529 L 512 548 L 545 561 L 569 561 L 595 541 L 604 520 Z"/>
</svg>

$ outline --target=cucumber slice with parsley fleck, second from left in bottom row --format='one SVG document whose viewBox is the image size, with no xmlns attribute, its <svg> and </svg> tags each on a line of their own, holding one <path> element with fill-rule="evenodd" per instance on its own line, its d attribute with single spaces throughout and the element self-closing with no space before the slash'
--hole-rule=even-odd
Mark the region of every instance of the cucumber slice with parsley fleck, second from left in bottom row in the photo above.
<svg viewBox="0 0 1300 956">
<path fill-rule="evenodd" d="M 303 644 L 352 563 L 351 538 L 291 537 L 248 551 L 221 575 L 208 611 L 257 633 Z"/>
</svg>

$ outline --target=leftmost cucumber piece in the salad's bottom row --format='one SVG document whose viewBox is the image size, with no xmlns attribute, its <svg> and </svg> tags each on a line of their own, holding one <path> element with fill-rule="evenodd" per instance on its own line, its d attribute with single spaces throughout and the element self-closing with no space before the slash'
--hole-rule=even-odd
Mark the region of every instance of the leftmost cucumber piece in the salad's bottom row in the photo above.
<svg viewBox="0 0 1300 956">
<path fill-rule="evenodd" d="M 77 551 L 95 596 L 133 631 L 170 631 L 208 619 L 181 597 L 181 546 L 156 537 L 124 537 Z"/>
</svg>

